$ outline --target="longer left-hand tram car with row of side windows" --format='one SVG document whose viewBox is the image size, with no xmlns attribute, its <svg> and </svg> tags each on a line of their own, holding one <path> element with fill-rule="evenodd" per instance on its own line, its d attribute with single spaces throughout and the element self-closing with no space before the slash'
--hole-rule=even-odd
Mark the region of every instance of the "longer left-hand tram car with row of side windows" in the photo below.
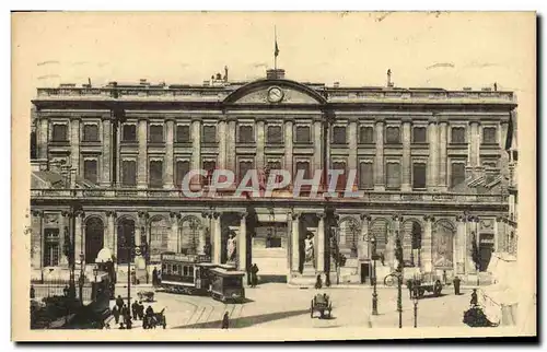
<svg viewBox="0 0 547 352">
<path fill-rule="evenodd" d="M 207 256 L 163 253 L 159 286 L 165 292 L 206 295 L 210 289 L 210 269 L 216 266 Z"/>
</svg>

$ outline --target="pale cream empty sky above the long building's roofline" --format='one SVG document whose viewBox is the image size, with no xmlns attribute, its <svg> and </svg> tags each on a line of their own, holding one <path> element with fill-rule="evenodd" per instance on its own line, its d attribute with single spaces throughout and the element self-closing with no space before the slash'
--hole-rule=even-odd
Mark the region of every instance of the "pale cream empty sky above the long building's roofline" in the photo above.
<svg viewBox="0 0 547 352">
<path fill-rule="evenodd" d="M 14 104 L 38 86 L 109 81 L 201 83 L 265 77 L 328 85 L 464 86 L 531 93 L 533 13 L 20 13 L 12 17 Z M 535 67 L 534 67 L 535 68 Z M 25 113 L 26 110 L 26 113 Z"/>
</svg>

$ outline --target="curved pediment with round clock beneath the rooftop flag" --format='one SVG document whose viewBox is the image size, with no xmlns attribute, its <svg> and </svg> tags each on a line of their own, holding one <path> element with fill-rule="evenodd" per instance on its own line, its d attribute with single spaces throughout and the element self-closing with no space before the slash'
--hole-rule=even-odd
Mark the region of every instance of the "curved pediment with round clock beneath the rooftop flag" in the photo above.
<svg viewBox="0 0 547 352">
<path fill-rule="evenodd" d="M 230 94 L 225 102 L 236 105 L 318 105 L 325 103 L 325 99 L 316 91 L 300 83 L 284 80 L 266 80 L 240 87 Z"/>
</svg>

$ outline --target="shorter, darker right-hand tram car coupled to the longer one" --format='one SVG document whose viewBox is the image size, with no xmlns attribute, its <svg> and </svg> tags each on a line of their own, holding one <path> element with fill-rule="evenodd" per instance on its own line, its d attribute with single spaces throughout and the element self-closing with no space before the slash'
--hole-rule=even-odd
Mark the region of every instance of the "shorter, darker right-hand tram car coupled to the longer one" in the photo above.
<svg viewBox="0 0 547 352">
<path fill-rule="evenodd" d="M 244 271 L 237 271 L 229 266 L 219 265 L 211 269 L 211 297 L 221 302 L 243 302 L 245 300 L 244 277 Z"/>
</svg>

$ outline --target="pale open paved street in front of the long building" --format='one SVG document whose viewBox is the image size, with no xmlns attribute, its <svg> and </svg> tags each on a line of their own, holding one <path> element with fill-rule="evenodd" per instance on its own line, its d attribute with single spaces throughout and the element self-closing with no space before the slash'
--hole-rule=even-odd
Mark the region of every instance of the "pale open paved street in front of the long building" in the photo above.
<svg viewBox="0 0 547 352">
<path fill-rule="evenodd" d="M 459 326 L 463 312 L 469 303 L 469 291 L 455 296 L 450 286 L 441 297 L 426 296 L 418 305 L 418 327 Z M 126 291 L 118 289 L 123 296 Z M 136 297 L 137 288 L 131 295 Z M 220 328 L 224 312 L 230 315 L 230 328 L 335 328 L 335 327 L 398 327 L 396 312 L 397 290 L 379 289 L 379 316 L 371 318 L 370 288 L 324 289 L 333 302 L 331 319 L 310 317 L 311 300 L 317 292 L 313 289 L 289 288 L 282 283 L 267 283 L 256 289 L 246 289 L 247 301 L 244 304 L 223 304 L 210 297 L 189 296 L 164 292 L 155 293 L 151 303 L 154 312 L 165 308 L 168 329 L 207 329 Z M 135 298 L 133 298 L 135 301 Z M 114 301 L 112 302 L 114 305 Z M 144 308 L 148 304 L 144 305 Z M 408 290 L 403 291 L 403 325 L 414 326 L 414 305 L 408 297 Z M 133 327 L 141 328 L 141 321 Z M 114 328 L 114 327 L 113 327 Z"/>
</svg>

